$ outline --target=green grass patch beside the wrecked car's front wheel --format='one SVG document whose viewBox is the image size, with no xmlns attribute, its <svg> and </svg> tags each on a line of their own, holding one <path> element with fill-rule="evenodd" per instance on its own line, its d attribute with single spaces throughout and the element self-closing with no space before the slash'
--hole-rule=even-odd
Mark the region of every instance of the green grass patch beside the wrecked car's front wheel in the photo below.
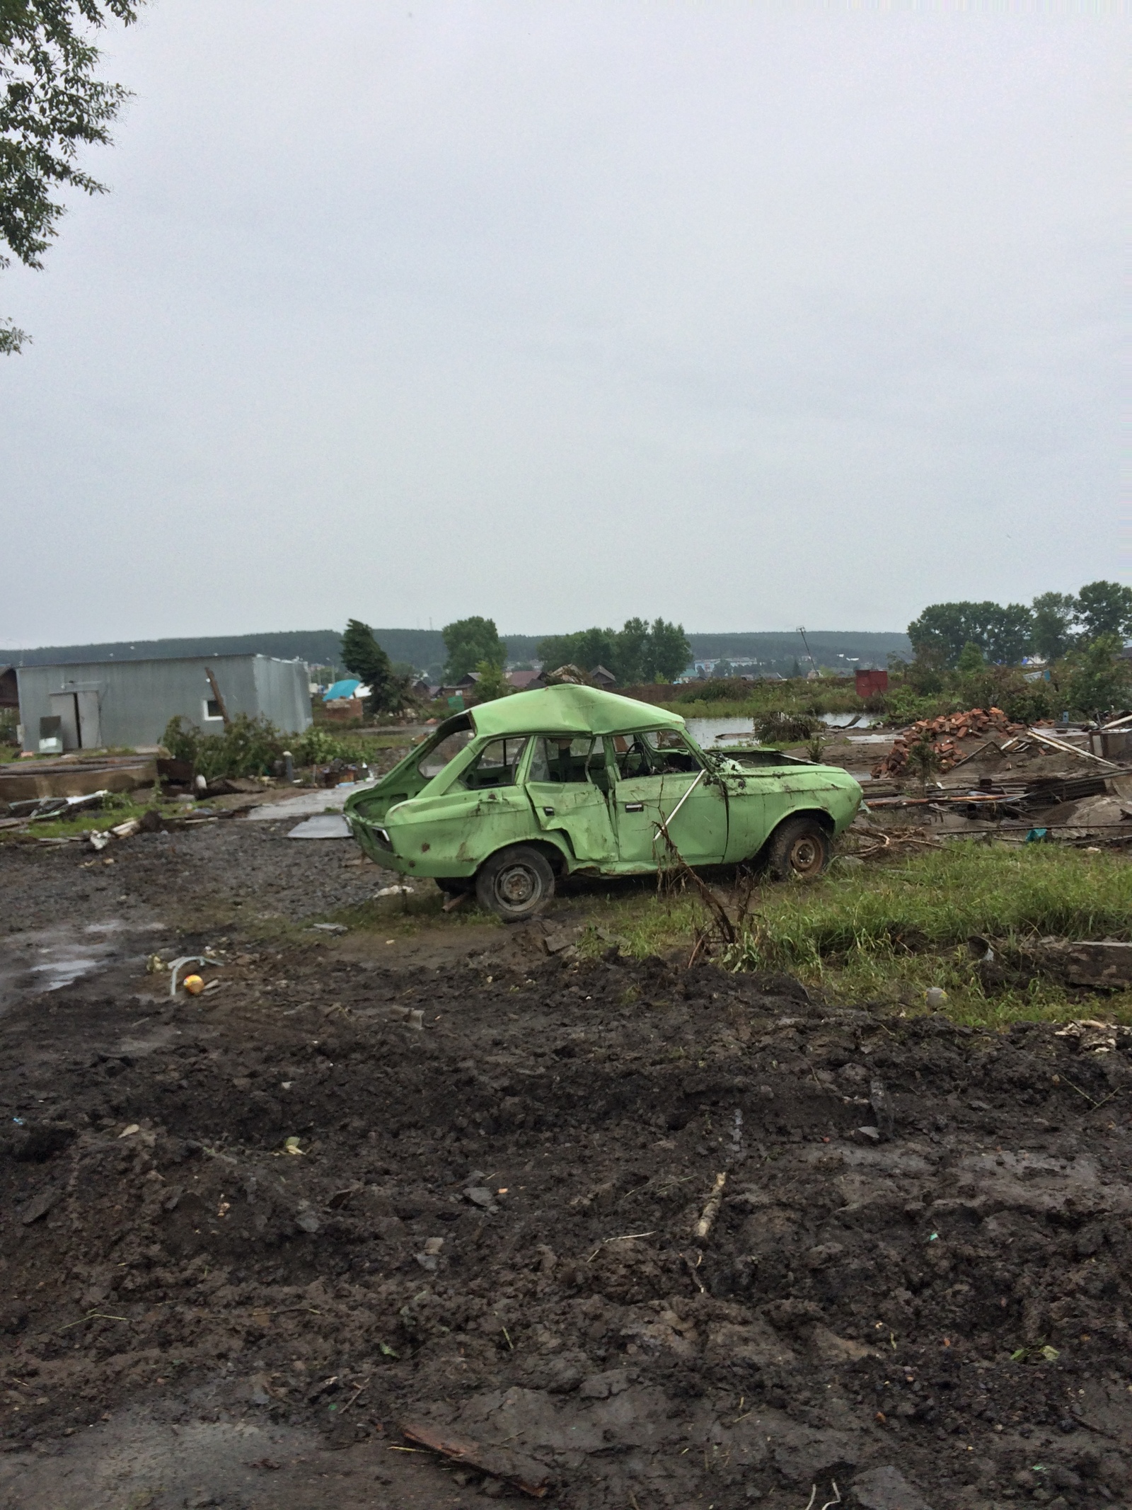
<svg viewBox="0 0 1132 1510">
<path fill-rule="evenodd" d="M 608 947 L 602 935 L 635 956 L 690 947 L 706 920 L 688 891 L 613 892 L 596 911 L 590 954 Z M 972 1025 L 1097 1013 L 1132 1022 L 1132 992 L 1097 998 L 1035 980 L 989 994 L 967 948 L 972 935 L 1007 953 L 1044 935 L 1132 939 L 1132 864 L 1112 853 L 969 841 L 811 885 L 768 882 L 743 941 L 720 962 L 786 971 L 833 1000 L 904 1012 L 924 1010 L 924 992 L 942 986 L 949 1015 Z"/>
</svg>

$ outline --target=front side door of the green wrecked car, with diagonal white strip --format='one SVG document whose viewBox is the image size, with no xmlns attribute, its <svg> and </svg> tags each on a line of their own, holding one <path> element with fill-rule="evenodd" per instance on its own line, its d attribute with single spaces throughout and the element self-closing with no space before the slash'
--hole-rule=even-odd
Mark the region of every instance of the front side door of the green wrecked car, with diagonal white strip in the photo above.
<svg viewBox="0 0 1132 1510">
<path fill-rule="evenodd" d="M 690 865 L 723 861 L 727 799 L 679 731 L 617 734 L 610 763 L 622 867 L 649 870 L 661 862 L 667 849 L 661 823 Z"/>
</svg>

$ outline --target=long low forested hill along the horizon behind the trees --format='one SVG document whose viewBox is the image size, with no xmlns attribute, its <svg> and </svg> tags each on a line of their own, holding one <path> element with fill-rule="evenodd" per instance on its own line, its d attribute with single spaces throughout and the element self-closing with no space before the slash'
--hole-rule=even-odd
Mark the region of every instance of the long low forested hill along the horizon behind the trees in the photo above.
<svg viewBox="0 0 1132 1510">
<path fill-rule="evenodd" d="M 889 652 L 910 655 L 906 634 L 872 634 L 856 630 L 806 631 L 818 661 L 836 664 L 838 657 L 884 664 Z M 374 630 L 379 645 L 389 660 L 412 666 L 441 666 L 444 640 L 439 630 Z M 507 657 L 512 661 L 531 660 L 540 634 L 506 634 Z M 798 634 L 734 633 L 688 634 L 696 657 L 755 660 L 782 669 L 794 660 L 804 663 L 806 652 Z M 3 651 L 0 666 L 75 666 L 103 660 L 166 660 L 177 655 L 278 655 L 282 660 L 305 660 L 311 666 L 338 666 L 341 639 L 337 630 L 284 630 L 267 634 L 210 634 L 180 640 L 116 640 L 106 645 L 44 645 L 36 649 Z"/>
</svg>

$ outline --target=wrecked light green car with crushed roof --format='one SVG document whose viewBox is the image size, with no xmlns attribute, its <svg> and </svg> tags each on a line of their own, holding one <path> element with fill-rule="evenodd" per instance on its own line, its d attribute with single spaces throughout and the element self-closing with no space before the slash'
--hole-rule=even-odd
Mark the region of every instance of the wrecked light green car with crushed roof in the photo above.
<svg viewBox="0 0 1132 1510">
<path fill-rule="evenodd" d="M 817 876 L 860 800 L 836 766 L 706 753 L 675 713 L 561 686 L 447 719 L 355 793 L 346 818 L 379 864 L 474 888 L 480 906 L 519 921 L 558 876 L 646 874 L 673 849 L 688 865 Z"/>
</svg>

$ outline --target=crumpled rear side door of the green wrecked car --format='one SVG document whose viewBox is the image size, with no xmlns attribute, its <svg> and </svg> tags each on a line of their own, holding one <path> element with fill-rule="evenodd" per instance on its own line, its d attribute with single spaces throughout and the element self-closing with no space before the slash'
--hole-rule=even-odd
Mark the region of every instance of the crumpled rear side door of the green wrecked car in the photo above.
<svg viewBox="0 0 1132 1510">
<path fill-rule="evenodd" d="M 580 861 L 611 864 L 616 838 L 605 791 L 605 747 L 590 734 L 540 735 L 527 772 L 539 827 L 564 835 Z"/>
</svg>

